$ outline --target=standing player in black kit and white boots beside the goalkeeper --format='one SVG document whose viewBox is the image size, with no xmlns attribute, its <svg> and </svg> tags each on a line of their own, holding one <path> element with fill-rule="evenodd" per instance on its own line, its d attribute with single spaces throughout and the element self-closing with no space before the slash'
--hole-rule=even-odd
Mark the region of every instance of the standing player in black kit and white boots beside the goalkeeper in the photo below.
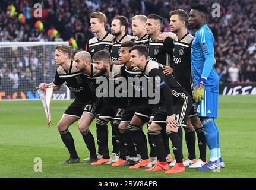
<svg viewBox="0 0 256 190">
<path fill-rule="evenodd" d="M 182 9 L 170 12 L 170 28 L 176 34 L 173 50 L 173 76 L 185 87 L 185 90 L 192 96 L 192 71 L 190 52 L 194 36 L 187 31 L 188 14 Z M 194 126 L 194 128 L 193 128 Z M 194 130 L 195 129 L 195 130 Z M 189 113 L 185 130 L 185 140 L 188 148 L 188 159 L 184 161 L 184 166 L 190 168 L 202 167 L 206 164 L 206 140 L 204 128 L 197 116 L 197 107 L 193 100 L 192 109 Z M 197 132 L 198 147 L 200 157 L 195 156 L 195 131 Z M 175 162 L 171 163 L 173 166 Z"/>
</svg>

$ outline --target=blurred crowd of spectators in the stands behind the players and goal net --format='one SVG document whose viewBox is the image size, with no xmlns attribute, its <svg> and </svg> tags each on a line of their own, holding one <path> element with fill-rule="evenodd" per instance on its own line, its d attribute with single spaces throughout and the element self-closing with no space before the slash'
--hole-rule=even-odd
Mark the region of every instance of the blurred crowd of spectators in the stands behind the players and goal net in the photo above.
<svg viewBox="0 0 256 190">
<path fill-rule="evenodd" d="M 27 14 L 27 10 L 37 2 L 44 10 L 43 29 L 35 27 L 37 19 Z M 216 2 L 220 4 L 220 17 L 210 16 L 208 26 L 216 40 L 216 69 L 220 83 L 256 83 L 256 2 L 210 0 L 204 3 L 208 9 L 213 10 L 211 7 Z M 8 5 L 14 5 L 16 14 L 10 16 Z M 115 15 L 124 15 L 131 23 L 134 15 L 151 13 L 162 16 L 163 31 L 170 31 L 169 11 L 179 8 L 189 11 L 190 5 L 191 1 L 188 0 L 3 0 L 0 2 L 0 42 L 62 41 L 73 37 L 78 45 L 76 50 L 81 50 L 85 49 L 89 39 L 94 36 L 90 29 L 90 14 L 93 11 L 106 14 L 108 31 Z M 18 18 L 20 13 L 26 16 L 26 21 Z M 53 28 L 58 34 L 48 32 Z M 131 34 L 130 27 L 128 34 Z M 28 84 L 26 80 L 35 84 L 37 82 L 34 81 L 41 81 L 47 75 L 47 69 L 41 73 L 42 69 L 39 68 L 43 64 L 42 59 L 35 52 L 24 52 L 22 57 L 17 54 L 8 55 L 0 53 L 0 88 L 3 85 L 17 88 L 19 84 Z"/>
</svg>

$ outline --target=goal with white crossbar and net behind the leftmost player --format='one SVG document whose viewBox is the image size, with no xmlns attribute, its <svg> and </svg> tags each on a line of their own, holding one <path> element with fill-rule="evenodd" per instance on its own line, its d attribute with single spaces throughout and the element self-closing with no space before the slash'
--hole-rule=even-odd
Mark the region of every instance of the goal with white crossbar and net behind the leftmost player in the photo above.
<svg viewBox="0 0 256 190">
<path fill-rule="evenodd" d="M 0 101 L 39 99 L 35 87 L 55 78 L 54 46 L 68 42 L 0 42 Z M 65 84 L 52 99 L 70 99 Z"/>
</svg>

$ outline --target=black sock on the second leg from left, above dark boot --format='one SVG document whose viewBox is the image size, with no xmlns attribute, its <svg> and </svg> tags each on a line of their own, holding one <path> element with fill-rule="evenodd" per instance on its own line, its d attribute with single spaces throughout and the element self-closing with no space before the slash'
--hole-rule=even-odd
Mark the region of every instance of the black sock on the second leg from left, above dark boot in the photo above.
<svg viewBox="0 0 256 190">
<path fill-rule="evenodd" d="M 97 159 L 93 134 L 91 134 L 90 130 L 87 129 L 86 131 L 81 132 L 81 135 L 83 136 L 84 143 L 86 143 L 86 146 L 90 152 L 90 158 Z"/>
</svg>

